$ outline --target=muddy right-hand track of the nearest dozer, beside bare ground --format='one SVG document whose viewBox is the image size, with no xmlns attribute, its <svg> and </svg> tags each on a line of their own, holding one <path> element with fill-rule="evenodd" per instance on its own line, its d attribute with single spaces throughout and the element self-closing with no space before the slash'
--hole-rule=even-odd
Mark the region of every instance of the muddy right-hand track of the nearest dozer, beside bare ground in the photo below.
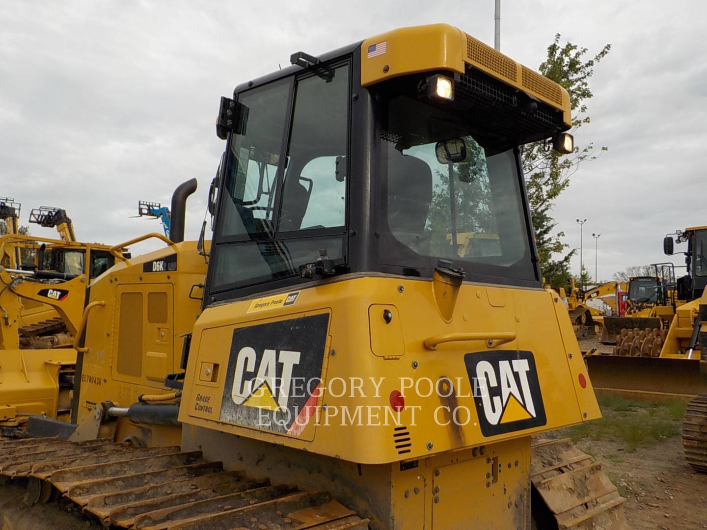
<svg viewBox="0 0 707 530">
<path fill-rule="evenodd" d="M 626 499 L 604 474 L 602 463 L 568 438 L 532 440 L 530 481 L 538 528 L 554 526 L 547 518 L 554 519 L 559 530 L 629 528 L 623 507 Z"/>
</svg>

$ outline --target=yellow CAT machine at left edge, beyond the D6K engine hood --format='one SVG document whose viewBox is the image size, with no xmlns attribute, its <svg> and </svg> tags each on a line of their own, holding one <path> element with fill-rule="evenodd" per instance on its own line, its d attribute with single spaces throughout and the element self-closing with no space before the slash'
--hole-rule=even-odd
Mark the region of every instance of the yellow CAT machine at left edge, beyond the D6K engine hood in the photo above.
<svg viewBox="0 0 707 530">
<path fill-rule="evenodd" d="M 6 205 L 6 203 L 5 203 Z M 28 418 L 69 422 L 76 351 L 88 285 L 115 263 L 109 247 L 76 241 L 65 211 L 37 208 L 30 222 L 57 228 L 61 239 L 0 236 L 0 434 L 18 435 Z"/>
</svg>

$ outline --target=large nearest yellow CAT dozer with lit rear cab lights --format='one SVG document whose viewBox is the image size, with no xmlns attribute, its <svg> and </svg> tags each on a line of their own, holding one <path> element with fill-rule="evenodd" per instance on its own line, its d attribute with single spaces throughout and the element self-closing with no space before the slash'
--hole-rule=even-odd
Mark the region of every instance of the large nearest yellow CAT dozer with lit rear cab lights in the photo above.
<svg viewBox="0 0 707 530">
<path fill-rule="evenodd" d="M 448 25 L 291 62 L 221 100 L 211 244 L 186 183 L 91 285 L 71 441 L 37 418 L 0 474 L 126 528 L 624 528 L 600 463 L 531 446 L 600 416 L 520 170 L 572 151 L 565 90 Z"/>
</svg>

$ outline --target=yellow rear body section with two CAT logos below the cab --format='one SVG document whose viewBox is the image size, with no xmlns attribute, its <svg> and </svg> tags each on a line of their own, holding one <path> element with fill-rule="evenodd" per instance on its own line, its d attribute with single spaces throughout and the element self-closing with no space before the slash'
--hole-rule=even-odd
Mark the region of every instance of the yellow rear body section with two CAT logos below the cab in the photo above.
<svg viewBox="0 0 707 530">
<path fill-rule="evenodd" d="M 252 300 L 238 300 L 206 309 L 194 329 L 187 367 L 187 374 L 194 377 L 187 376 L 185 382 L 180 420 L 362 464 L 381 464 L 600 416 L 567 312 L 563 306 L 555 307 L 562 302 L 554 301 L 554 293 L 463 283 L 447 321 L 438 310 L 431 283 L 407 277 L 344 276 L 303 288 L 293 307 L 248 314 Z M 372 305 L 397 308 L 394 317 L 399 317 L 405 351 L 401 357 L 373 353 Z M 327 322 L 308 324 L 308 319 L 322 314 Z M 399 336 L 390 325 L 381 324 L 380 333 Z M 294 333 L 296 329 L 300 331 Z M 483 333 L 516 338 L 501 346 L 477 338 L 445 341 L 435 350 L 424 346 L 431 336 Z M 198 380 L 201 363 L 221 366 L 215 382 Z M 274 372 L 271 366 L 276 367 Z M 314 393 L 315 384 L 293 408 L 294 396 L 283 394 L 285 387 L 273 380 L 267 395 L 258 393 L 258 401 L 252 400 L 262 382 L 273 373 L 281 377 L 285 366 L 287 377 L 313 380 L 320 393 Z M 479 381 L 484 382 L 486 396 L 479 394 Z M 268 398 L 269 406 L 263 406 L 260 398 Z M 402 410 L 395 408 L 398 405 Z M 264 412 L 245 411 L 250 406 Z M 293 409 L 289 419 L 285 408 Z M 284 421 L 281 428 L 255 421 L 265 418 L 271 423 L 276 417 Z M 293 430 L 296 417 L 301 425 Z"/>
</svg>

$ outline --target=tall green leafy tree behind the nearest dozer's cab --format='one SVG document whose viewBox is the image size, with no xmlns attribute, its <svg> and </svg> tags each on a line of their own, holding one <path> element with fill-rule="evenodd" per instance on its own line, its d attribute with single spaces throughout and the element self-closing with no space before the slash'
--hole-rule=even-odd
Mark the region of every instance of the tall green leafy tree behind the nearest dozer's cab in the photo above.
<svg viewBox="0 0 707 530">
<path fill-rule="evenodd" d="M 572 112 L 571 133 L 590 123 L 587 102 L 593 96 L 589 79 L 595 65 L 611 49 L 605 45 L 593 57 L 586 57 L 587 48 L 580 48 L 571 42 L 561 45 L 560 34 L 547 48 L 547 59 L 540 64 L 539 72 L 563 86 L 570 96 Z M 602 147 L 599 153 L 607 151 Z M 561 155 L 549 149 L 547 142 L 530 143 L 523 148 L 522 163 L 528 189 L 528 200 L 532 210 L 532 222 L 540 258 L 542 274 L 554 287 L 567 283 L 570 276 L 570 260 L 575 249 L 563 242 L 564 232 L 556 231 L 557 223 L 551 216 L 555 199 L 570 184 L 570 177 L 585 160 L 594 160 L 597 154 L 592 143 L 578 146 L 575 141 L 574 152 Z M 557 255 L 560 257 L 556 257 Z"/>
</svg>

